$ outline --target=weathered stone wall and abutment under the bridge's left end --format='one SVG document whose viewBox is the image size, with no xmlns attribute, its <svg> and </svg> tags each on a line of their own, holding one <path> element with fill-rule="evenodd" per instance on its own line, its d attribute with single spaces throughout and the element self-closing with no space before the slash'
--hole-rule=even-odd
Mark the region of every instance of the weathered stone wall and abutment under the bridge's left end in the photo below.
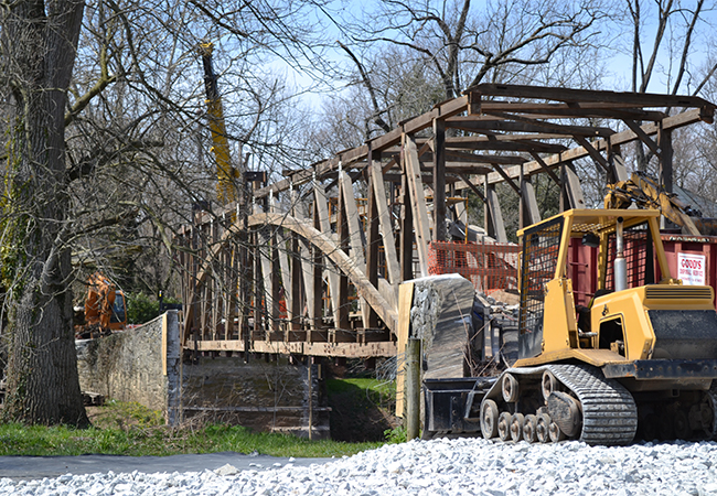
<svg viewBox="0 0 717 496">
<path fill-rule="evenodd" d="M 321 365 L 290 365 L 277 355 L 267 355 L 268 362 L 250 355 L 247 363 L 211 354 L 181 363 L 176 311 L 133 330 L 76 343 L 83 391 L 137 401 L 162 411 L 170 424 L 199 416 L 259 431 L 329 436 Z"/>
</svg>

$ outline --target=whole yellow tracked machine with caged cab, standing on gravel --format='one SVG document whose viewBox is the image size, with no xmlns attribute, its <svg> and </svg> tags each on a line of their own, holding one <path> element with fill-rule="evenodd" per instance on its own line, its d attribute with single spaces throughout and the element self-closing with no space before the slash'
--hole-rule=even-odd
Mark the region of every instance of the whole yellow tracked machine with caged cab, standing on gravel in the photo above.
<svg viewBox="0 0 717 496">
<path fill-rule="evenodd" d="M 659 217 L 574 209 L 518 231 L 518 359 L 482 400 L 485 436 L 624 444 L 640 425 L 646 439 L 711 439 L 714 294 L 671 278 Z M 597 250 L 584 308 L 568 277 L 578 245 Z"/>
</svg>

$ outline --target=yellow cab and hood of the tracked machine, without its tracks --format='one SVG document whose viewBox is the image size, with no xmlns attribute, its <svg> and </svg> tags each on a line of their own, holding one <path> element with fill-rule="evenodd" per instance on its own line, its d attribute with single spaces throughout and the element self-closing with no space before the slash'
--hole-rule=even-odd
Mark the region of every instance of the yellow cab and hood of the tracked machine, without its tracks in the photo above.
<svg viewBox="0 0 717 496">
<path fill-rule="evenodd" d="M 523 346 L 521 343 L 520 358 L 514 367 L 565 360 L 579 360 L 602 367 L 653 358 L 714 358 L 700 356 L 710 352 L 699 346 L 699 343 L 692 346 L 679 344 L 679 356 L 675 356 L 674 351 L 660 346 L 660 339 L 655 335 L 651 320 L 651 314 L 656 314 L 654 311 L 663 311 L 657 312 L 661 319 L 670 316 L 665 311 L 705 311 L 708 316 L 709 313 L 715 313 L 714 292 L 710 287 L 682 285 L 682 281 L 671 278 L 660 237 L 659 217 L 657 211 L 572 209 L 518 231 L 524 245 L 521 262 L 522 309 L 518 341 L 529 342 L 531 346 Z M 632 285 L 595 298 L 588 309 L 589 328 L 581 330 L 578 325 L 572 281 L 566 277 L 568 246 L 570 240 L 581 242 L 586 234 L 595 235 L 593 239 L 599 240 L 600 247 L 599 288 L 610 289 L 606 288 L 610 270 L 609 239 L 616 235 L 618 219 L 622 219 L 624 229 L 640 226 L 639 233 L 652 244 L 652 256 L 657 261 L 662 278 L 656 283 Z M 545 236 L 539 226 L 552 224 L 558 225 L 559 229 L 554 227 L 549 235 Z M 532 246 L 547 238 L 554 239 L 552 249 L 547 250 L 549 252 L 543 250 L 537 256 L 532 252 Z M 555 266 L 548 268 L 552 273 L 547 273 L 544 265 L 538 265 L 538 269 L 532 270 L 529 257 L 555 258 Z M 646 263 L 653 263 L 653 260 L 646 260 Z M 532 291 L 529 284 L 533 284 Z M 543 294 L 539 294 L 539 291 Z M 535 322 L 537 325 L 534 326 L 526 325 L 526 322 L 529 323 L 527 312 L 532 300 L 541 298 L 542 322 Z M 527 336 L 536 331 L 539 336 Z M 703 385 L 705 386 L 708 387 L 709 381 Z"/>
</svg>

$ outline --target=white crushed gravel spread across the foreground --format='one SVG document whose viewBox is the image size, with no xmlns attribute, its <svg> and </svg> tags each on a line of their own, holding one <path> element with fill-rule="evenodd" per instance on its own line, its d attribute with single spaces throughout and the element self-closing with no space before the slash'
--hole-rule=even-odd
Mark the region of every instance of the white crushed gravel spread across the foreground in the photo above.
<svg viewBox="0 0 717 496">
<path fill-rule="evenodd" d="M 385 445 L 324 465 L 0 479 L 0 495 L 717 495 L 717 443 L 590 448 L 483 439 Z"/>
</svg>

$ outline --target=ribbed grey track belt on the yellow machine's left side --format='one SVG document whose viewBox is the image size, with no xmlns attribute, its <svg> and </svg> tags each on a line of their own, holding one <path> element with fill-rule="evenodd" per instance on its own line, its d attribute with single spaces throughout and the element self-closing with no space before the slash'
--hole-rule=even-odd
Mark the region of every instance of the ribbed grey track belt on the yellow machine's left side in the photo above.
<svg viewBox="0 0 717 496">
<path fill-rule="evenodd" d="M 638 406 L 630 391 L 602 370 L 589 365 L 545 365 L 512 368 L 505 373 L 537 375 L 549 370 L 565 388 L 572 391 L 582 406 L 580 441 L 587 444 L 629 444 L 638 431 Z M 501 381 L 496 381 L 500 386 Z M 494 387 L 495 388 L 495 387 Z M 494 390 L 492 389 L 492 391 Z M 492 392 L 491 391 L 491 392 Z M 490 392 L 489 392 L 489 396 Z"/>
</svg>

